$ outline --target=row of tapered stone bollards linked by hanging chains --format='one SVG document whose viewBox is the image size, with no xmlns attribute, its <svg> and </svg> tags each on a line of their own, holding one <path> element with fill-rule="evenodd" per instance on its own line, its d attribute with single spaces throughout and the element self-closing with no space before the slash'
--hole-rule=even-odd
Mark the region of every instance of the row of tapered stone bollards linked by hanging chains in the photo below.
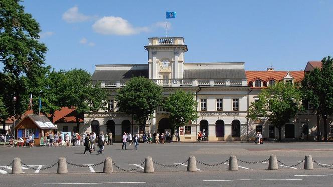
<svg viewBox="0 0 333 187">
<path fill-rule="evenodd" d="M 116 165 L 112 161 L 111 157 L 107 157 L 107 158 L 105 158 L 105 160 L 103 162 L 100 162 L 100 163 L 97 163 L 97 164 L 94 164 L 94 165 L 91 165 L 91 166 L 97 166 L 97 165 L 101 165 L 101 164 L 104 163 L 103 173 L 113 173 L 113 165 L 121 171 L 132 172 L 132 171 L 137 170 L 138 168 L 140 168 L 144 164 L 144 172 L 145 173 L 153 173 L 154 172 L 154 163 L 157 164 L 157 165 L 160 165 L 160 166 L 164 166 L 164 167 L 177 167 L 177 166 L 180 166 L 180 165 L 184 165 L 186 162 L 188 162 L 187 171 L 196 172 L 198 170 L 197 169 L 197 162 L 200 163 L 200 164 L 206 165 L 206 166 L 219 166 L 221 164 L 226 164 L 227 162 L 229 162 L 228 170 L 237 171 L 238 170 L 237 161 L 240 161 L 240 162 L 243 162 L 243 163 L 256 164 L 256 163 L 262 163 L 262 162 L 265 162 L 265 161 L 268 161 L 268 160 L 269 160 L 268 170 L 278 170 L 279 169 L 278 168 L 278 163 L 280 163 L 283 166 L 287 166 L 287 167 L 295 167 L 295 166 L 298 166 L 298 165 L 300 165 L 304 162 L 304 167 L 303 168 L 308 169 L 308 170 L 313 169 L 313 163 L 315 163 L 315 164 L 317 164 L 321 167 L 326 167 L 326 168 L 333 166 L 333 164 L 332 165 L 320 164 L 320 163 L 316 162 L 314 159 L 312 159 L 311 155 L 306 155 L 305 158 L 302 161 L 300 161 L 299 163 L 297 163 L 296 165 L 286 165 L 286 164 L 282 163 L 280 160 L 278 160 L 276 155 L 274 155 L 274 154 L 270 155 L 270 157 L 268 159 L 263 160 L 263 161 L 258 161 L 258 162 L 247 162 L 247 161 L 239 160 L 239 159 L 237 159 L 237 157 L 235 155 L 231 155 L 229 157 L 229 159 L 225 160 L 222 163 L 218 163 L 218 164 L 206 164 L 204 162 L 201 162 L 201 161 L 197 160 L 196 157 L 190 156 L 184 162 L 179 163 L 179 164 L 175 164 L 175 165 L 164 165 L 164 164 L 161 164 L 161 163 L 158 163 L 158 162 L 152 160 L 152 158 L 150 156 L 148 156 L 148 157 L 145 158 L 145 160 L 139 166 L 137 166 L 136 168 L 134 168 L 132 170 L 126 170 L 126 169 L 120 168 L 118 165 Z M 23 163 L 21 161 L 21 159 L 18 158 L 18 157 L 14 158 L 13 161 L 10 164 L 3 167 L 2 169 L 5 169 L 5 168 L 9 167 L 10 165 L 12 165 L 12 174 L 22 174 L 23 172 L 22 172 L 21 164 L 23 164 L 25 167 L 37 170 L 36 168 L 30 167 L 29 165 Z M 68 173 L 67 164 L 77 166 L 77 167 L 88 167 L 87 165 L 77 165 L 77 164 L 67 162 L 65 157 L 60 157 L 58 162 L 55 162 L 54 164 L 50 165 L 49 167 L 40 168 L 38 170 L 46 170 L 46 169 L 49 169 L 49 168 L 51 168 L 55 165 L 58 165 L 57 173 L 58 174 L 66 174 L 66 173 Z"/>
</svg>

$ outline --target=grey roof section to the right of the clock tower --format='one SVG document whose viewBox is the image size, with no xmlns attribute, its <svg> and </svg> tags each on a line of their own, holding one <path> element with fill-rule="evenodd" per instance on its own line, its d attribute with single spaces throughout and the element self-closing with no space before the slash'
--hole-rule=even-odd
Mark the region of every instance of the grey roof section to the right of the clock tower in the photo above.
<svg viewBox="0 0 333 187">
<path fill-rule="evenodd" d="M 195 69 L 184 70 L 183 77 L 186 79 L 229 79 L 246 78 L 244 69 Z"/>
</svg>

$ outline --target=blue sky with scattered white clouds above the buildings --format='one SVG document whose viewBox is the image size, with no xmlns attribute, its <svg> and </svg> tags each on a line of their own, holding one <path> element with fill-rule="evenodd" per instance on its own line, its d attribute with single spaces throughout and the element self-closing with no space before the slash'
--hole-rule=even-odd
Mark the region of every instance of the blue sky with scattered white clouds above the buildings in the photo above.
<svg viewBox="0 0 333 187">
<path fill-rule="evenodd" d="M 333 1 L 64 1 L 21 3 L 40 23 L 56 70 L 146 64 L 148 37 L 184 37 L 186 62 L 245 62 L 246 70 L 304 70 L 333 55 Z"/>
</svg>

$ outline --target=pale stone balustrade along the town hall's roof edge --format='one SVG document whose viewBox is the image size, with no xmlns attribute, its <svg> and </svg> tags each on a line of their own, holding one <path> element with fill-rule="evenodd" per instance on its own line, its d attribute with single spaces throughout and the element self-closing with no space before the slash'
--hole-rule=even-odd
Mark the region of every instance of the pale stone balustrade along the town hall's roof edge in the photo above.
<svg viewBox="0 0 333 187">
<path fill-rule="evenodd" d="M 246 79 L 151 79 L 157 85 L 163 87 L 184 86 L 247 86 Z M 128 80 L 101 80 L 102 87 L 120 88 L 126 85 Z M 93 81 L 96 84 L 97 81 Z"/>
</svg>

